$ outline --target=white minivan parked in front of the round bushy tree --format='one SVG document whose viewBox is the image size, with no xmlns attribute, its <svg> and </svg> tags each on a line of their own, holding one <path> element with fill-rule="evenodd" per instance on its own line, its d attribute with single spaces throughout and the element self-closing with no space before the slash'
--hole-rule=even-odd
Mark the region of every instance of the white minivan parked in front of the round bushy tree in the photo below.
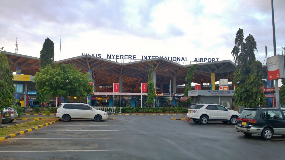
<svg viewBox="0 0 285 160">
<path fill-rule="evenodd" d="M 108 114 L 102 110 L 84 103 L 61 103 L 57 108 L 56 117 L 62 118 L 64 122 L 74 119 L 94 119 L 96 122 L 107 119 Z"/>
</svg>

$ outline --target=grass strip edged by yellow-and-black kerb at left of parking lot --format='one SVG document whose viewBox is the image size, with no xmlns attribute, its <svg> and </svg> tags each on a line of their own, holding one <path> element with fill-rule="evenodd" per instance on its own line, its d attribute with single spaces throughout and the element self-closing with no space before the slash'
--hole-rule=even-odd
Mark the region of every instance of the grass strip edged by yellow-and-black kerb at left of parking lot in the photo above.
<svg viewBox="0 0 285 160">
<path fill-rule="evenodd" d="M 40 118 L 42 118 L 42 119 L 33 120 L 33 121 L 30 121 L 27 123 L 22 123 L 22 124 L 13 126 L 13 127 L 1 128 L 0 137 L 7 136 L 9 134 L 13 134 L 13 133 L 20 132 L 23 130 L 27 130 L 27 129 L 30 129 L 30 128 L 33 128 L 33 127 L 36 127 L 36 126 L 39 126 L 39 125 L 42 125 L 42 124 L 45 124 L 45 123 L 59 119 L 59 118 L 55 118 L 55 117 L 40 117 Z"/>
</svg>

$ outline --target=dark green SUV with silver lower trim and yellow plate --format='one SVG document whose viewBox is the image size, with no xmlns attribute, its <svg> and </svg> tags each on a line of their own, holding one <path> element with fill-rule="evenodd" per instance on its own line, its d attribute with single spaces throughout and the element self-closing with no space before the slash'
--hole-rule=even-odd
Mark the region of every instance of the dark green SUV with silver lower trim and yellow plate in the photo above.
<svg viewBox="0 0 285 160">
<path fill-rule="evenodd" d="M 259 134 L 266 140 L 270 140 L 273 135 L 285 135 L 285 109 L 245 108 L 235 128 L 246 136 Z"/>
</svg>

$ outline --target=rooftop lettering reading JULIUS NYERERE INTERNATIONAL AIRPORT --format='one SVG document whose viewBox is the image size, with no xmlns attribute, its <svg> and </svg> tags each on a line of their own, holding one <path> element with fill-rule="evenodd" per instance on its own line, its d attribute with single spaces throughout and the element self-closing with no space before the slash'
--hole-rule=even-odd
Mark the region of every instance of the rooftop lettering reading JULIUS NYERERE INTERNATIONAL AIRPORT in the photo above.
<svg viewBox="0 0 285 160">
<path fill-rule="evenodd" d="M 89 53 L 83 55 L 89 55 Z M 90 56 L 102 58 L 101 54 L 91 54 Z M 165 58 L 170 61 L 190 61 L 187 60 L 187 57 L 172 57 L 172 56 L 141 56 L 139 59 L 136 55 L 123 55 L 123 54 L 107 54 L 106 59 L 123 59 L 123 60 L 149 60 L 153 58 Z M 105 59 L 105 58 L 104 58 Z M 218 61 L 219 58 L 194 58 L 194 62 L 215 62 Z"/>
</svg>

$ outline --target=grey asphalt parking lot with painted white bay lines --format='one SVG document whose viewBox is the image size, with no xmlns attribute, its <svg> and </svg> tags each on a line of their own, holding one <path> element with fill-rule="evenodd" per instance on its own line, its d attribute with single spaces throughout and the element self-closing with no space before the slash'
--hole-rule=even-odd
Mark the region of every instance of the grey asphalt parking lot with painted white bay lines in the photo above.
<svg viewBox="0 0 285 160">
<path fill-rule="evenodd" d="M 284 159 L 284 136 L 246 137 L 222 122 L 175 115 L 110 115 L 56 122 L 0 141 L 1 159 Z M 179 115 L 177 115 L 179 117 Z"/>
</svg>

